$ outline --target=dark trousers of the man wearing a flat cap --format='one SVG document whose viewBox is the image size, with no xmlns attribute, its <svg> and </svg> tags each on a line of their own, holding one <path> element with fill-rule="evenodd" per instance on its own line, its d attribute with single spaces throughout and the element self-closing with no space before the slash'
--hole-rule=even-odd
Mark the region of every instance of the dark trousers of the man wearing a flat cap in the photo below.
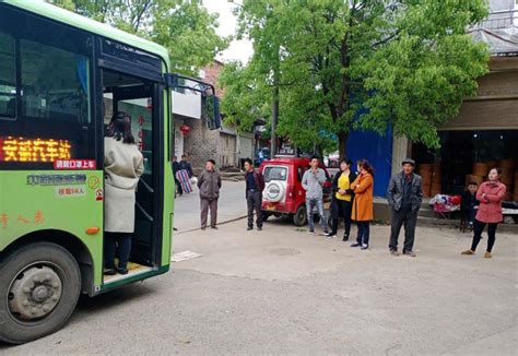
<svg viewBox="0 0 518 356">
<path fill-rule="evenodd" d="M 389 249 L 391 251 L 398 250 L 398 239 L 401 227 L 404 225 L 404 245 L 403 252 L 412 251 L 415 239 L 415 226 L 417 225 L 417 212 L 412 212 L 412 209 L 401 207 L 399 212 L 392 209 L 390 217 L 390 241 Z"/>
</svg>

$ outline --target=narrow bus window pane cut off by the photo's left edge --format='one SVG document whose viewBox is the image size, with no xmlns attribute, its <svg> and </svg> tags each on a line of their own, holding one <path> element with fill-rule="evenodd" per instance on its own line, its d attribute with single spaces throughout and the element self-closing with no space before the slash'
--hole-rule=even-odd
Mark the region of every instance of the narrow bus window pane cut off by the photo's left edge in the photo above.
<svg viewBox="0 0 518 356">
<path fill-rule="evenodd" d="M 16 117 L 14 38 L 0 32 L 0 117 Z"/>
</svg>

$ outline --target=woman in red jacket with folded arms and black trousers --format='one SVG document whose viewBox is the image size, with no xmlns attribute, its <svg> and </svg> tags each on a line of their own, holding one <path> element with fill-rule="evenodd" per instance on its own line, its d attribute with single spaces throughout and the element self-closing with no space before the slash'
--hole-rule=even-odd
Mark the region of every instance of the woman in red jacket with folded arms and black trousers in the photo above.
<svg viewBox="0 0 518 356">
<path fill-rule="evenodd" d="M 480 201 L 473 227 L 473 242 L 471 249 L 463 251 L 462 254 L 474 254 L 476 245 L 482 236 L 485 224 L 487 224 L 487 250 L 484 254 L 491 259 L 491 250 L 495 245 L 496 226 L 504 219 L 502 215 L 502 201 L 504 200 L 506 188 L 501 183 L 502 169 L 492 168 L 488 175 L 488 181 L 483 182 L 476 192 L 476 200 Z"/>
</svg>

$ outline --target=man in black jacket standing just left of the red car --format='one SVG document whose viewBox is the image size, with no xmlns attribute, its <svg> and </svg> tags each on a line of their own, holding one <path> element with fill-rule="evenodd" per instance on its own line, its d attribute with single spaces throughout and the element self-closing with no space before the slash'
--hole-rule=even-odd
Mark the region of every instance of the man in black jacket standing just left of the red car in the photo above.
<svg viewBox="0 0 518 356">
<path fill-rule="evenodd" d="M 248 206 L 248 228 L 254 228 L 254 210 L 256 211 L 257 229 L 262 230 L 262 191 L 264 190 L 264 179 L 262 174 L 254 169 L 250 158 L 245 159 L 246 180 L 246 202 Z"/>
</svg>

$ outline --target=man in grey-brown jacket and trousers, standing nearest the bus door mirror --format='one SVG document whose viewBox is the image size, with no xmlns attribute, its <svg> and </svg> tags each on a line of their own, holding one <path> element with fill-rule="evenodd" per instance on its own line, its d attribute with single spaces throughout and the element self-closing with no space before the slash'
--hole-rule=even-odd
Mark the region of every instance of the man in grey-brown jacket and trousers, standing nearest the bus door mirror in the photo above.
<svg viewBox="0 0 518 356">
<path fill-rule="evenodd" d="M 205 169 L 198 177 L 198 188 L 200 189 L 201 229 L 207 228 L 207 217 L 209 209 L 211 211 L 211 228 L 217 229 L 217 199 L 220 198 L 221 176 L 214 169 L 214 159 L 205 163 Z"/>
</svg>

